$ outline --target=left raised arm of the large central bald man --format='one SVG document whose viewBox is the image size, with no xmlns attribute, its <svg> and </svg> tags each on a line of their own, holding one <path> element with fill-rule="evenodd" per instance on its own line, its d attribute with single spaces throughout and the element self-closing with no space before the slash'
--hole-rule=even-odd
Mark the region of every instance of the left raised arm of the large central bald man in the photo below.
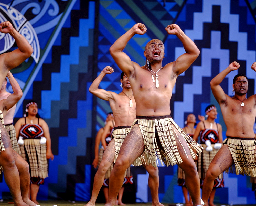
<svg viewBox="0 0 256 206">
<path fill-rule="evenodd" d="M 114 44 L 110 47 L 109 52 L 113 59 L 115 60 L 118 67 L 129 77 L 134 71 L 133 63 L 130 57 L 123 52 L 128 41 L 135 35 L 143 35 L 147 31 L 144 24 L 137 23 L 131 29 L 129 29 L 125 34 L 119 37 Z"/>
</svg>

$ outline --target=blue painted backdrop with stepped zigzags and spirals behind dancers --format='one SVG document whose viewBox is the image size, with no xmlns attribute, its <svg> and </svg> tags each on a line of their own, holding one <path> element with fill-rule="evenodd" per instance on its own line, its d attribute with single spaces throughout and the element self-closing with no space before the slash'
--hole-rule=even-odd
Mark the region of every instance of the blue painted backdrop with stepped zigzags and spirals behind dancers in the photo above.
<svg viewBox="0 0 256 206">
<path fill-rule="evenodd" d="M 145 64 L 145 44 L 161 39 L 165 44 L 163 64 L 184 52 L 176 36 L 165 27 L 178 24 L 201 51 L 193 65 L 177 79 L 170 107 L 171 116 L 184 126 L 189 113 L 204 114 L 207 105 L 217 105 L 210 80 L 230 62 L 238 61 L 238 71 L 224 79 L 222 87 L 232 96 L 232 79 L 245 73 L 248 95 L 255 93 L 255 72 L 250 65 L 255 57 L 255 7 L 253 0 L 11 0 L 0 1 L 0 20 L 9 20 L 33 45 L 34 53 L 12 70 L 23 89 L 15 121 L 22 117 L 29 99 L 39 103 L 39 113 L 50 127 L 54 161 L 49 161 L 49 177 L 40 186 L 38 199 L 88 201 L 95 170 L 91 167 L 96 131 L 104 125 L 108 102 L 89 92 L 91 82 L 106 66 L 115 72 L 106 76 L 100 87 L 120 92 L 120 73 L 109 54 L 111 44 L 135 23 L 144 23 L 147 33 L 136 35 L 125 52 L 133 61 Z M 214 2 L 214 3 L 213 3 Z M 10 6 L 10 8 L 9 8 Z M 0 35 L 0 52 L 13 50 L 8 35 Z M 219 107 L 218 110 L 220 111 Z M 217 122 L 225 124 L 221 113 Z M 137 201 L 151 201 L 148 174 L 132 168 Z M 183 202 L 177 186 L 177 166 L 159 167 L 159 199 Z M 3 181 L 0 198 L 8 193 Z M 218 189 L 216 204 L 254 204 L 248 177 L 225 175 L 225 188 Z"/>
</svg>

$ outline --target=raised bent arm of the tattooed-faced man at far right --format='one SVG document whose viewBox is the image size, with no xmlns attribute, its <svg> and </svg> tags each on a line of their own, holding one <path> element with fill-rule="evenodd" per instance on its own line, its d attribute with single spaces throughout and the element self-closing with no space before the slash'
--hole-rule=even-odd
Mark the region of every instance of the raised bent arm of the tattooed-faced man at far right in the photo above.
<svg viewBox="0 0 256 206">
<path fill-rule="evenodd" d="M 223 89 L 220 86 L 220 83 L 227 76 L 227 74 L 229 74 L 229 72 L 237 70 L 239 67 L 240 67 L 239 63 L 234 61 L 231 64 L 229 64 L 229 66 L 225 70 L 220 72 L 216 77 L 214 77 L 211 80 L 210 82 L 211 90 L 215 99 L 219 104 L 223 101 L 226 101 L 226 98 L 227 98 L 226 94 L 224 93 Z"/>
</svg>

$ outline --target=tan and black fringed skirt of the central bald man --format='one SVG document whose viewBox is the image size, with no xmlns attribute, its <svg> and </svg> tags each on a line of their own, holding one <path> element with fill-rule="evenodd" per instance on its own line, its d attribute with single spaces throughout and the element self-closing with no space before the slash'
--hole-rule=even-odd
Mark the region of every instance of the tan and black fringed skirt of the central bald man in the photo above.
<svg viewBox="0 0 256 206">
<path fill-rule="evenodd" d="M 167 166 L 181 163 L 182 159 L 177 149 L 175 137 L 179 140 L 179 142 L 179 138 L 184 138 L 186 140 L 186 143 L 190 149 L 190 153 L 193 158 L 197 156 L 193 149 L 195 149 L 196 152 L 198 153 L 202 152 L 202 147 L 197 142 L 195 142 L 190 136 L 188 136 L 187 133 L 184 132 L 183 129 L 180 128 L 170 116 L 137 116 L 132 126 L 137 121 L 142 133 L 142 137 L 144 139 L 144 158 L 147 165 L 151 164 L 152 166 L 157 167 L 157 158 L 160 160 L 162 166 L 163 162 Z M 159 140 L 161 142 L 163 150 L 160 149 L 159 146 L 157 145 L 155 129 L 159 136 Z M 184 149 L 181 142 L 180 145 Z M 185 149 L 184 152 L 186 155 L 188 155 Z"/>
</svg>

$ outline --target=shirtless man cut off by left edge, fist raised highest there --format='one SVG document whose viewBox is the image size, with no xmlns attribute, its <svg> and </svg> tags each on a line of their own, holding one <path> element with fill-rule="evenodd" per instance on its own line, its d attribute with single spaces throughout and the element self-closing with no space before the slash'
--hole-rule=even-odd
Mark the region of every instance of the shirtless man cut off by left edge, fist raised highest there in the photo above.
<svg viewBox="0 0 256 206">
<path fill-rule="evenodd" d="M 18 49 L 15 49 L 12 52 L 7 52 L 0 55 L 0 85 L 2 85 L 9 70 L 17 67 L 23 61 L 29 58 L 33 53 L 33 48 L 30 46 L 28 41 L 13 28 L 9 21 L 0 23 L 0 32 L 11 35 L 16 41 L 18 47 Z M 36 205 L 28 198 L 28 186 L 30 178 L 28 178 L 28 181 L 26 181 L 26 179 L 23 181 L 19 174 L 22 172 L 24 177 L 27 175 L 29 176 L 28 164 L 24 162 L 22 167 L 23 170 L 19 170 L 18 165 L 23 164 L 23 162 L 20 161 L 18 154 L 12 149 L 10 138 L 4 128 L 3 123 L 0 123 L 0 131 L 0 165 L 4 171 L 5 182 L 10 189 L 10 193 L 12 194 L 14 205 Z"/>
</svg>

